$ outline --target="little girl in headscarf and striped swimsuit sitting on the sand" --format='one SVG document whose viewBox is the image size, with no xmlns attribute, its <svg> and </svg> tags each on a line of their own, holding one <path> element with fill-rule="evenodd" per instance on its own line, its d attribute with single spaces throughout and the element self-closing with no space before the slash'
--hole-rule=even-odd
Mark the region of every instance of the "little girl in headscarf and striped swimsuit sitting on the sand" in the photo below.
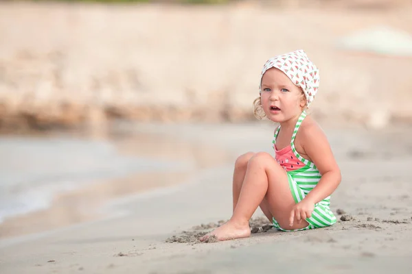
<svg viewBox="0 0 412 274">
<path fill-rule="evenodd" d="M 279 123 L 271 154 L 246 153 L 235 163 L 233 215 L 203 236 L 218 240 L 251 235 L 249 220 L 260 206 L 284 232 L 328 227 L 336 223 L 330 195 L 341 182 L 328 140 L 306 116 L 319 87 L 319 70 L 303 50 L 269 59 L 263 67 L 255 116 Z"/>
</svg>

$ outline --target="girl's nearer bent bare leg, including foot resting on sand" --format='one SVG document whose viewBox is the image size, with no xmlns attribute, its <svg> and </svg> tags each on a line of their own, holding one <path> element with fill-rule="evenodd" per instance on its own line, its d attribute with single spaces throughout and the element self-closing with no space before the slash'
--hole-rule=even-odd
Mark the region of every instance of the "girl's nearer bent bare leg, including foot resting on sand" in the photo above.
<svg viewBox="0 0 412 274">
<path fill-rule="evenodd" d="M 240 196 L 231 219 L 213 232 L 203 236 L 206 240 L 214 235 L 218 240 L 249 237 L 249 219 L 266 197 L 268 208 L 279 226 L 284 229 L 299 229 L 308 226 L 306 221 L 289 226 L 289 214 L 295 200 L 288 184 L 288 176 L 268 153 L 257 153 L 249 160 Z"/>
</svg>

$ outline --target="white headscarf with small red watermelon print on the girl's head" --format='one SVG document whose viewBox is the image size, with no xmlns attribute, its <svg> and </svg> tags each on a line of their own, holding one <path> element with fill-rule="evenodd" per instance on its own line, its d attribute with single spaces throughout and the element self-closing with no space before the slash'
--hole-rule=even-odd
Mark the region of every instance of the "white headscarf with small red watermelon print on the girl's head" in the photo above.
<svg viewBox="0 0 412 274">
<path fill-rule="evenodd" d="M 260 75 L 259 94 L 262 92 L 262 77 L 271 68 L 283 71 L 293 84 L 300 86 L 304 90 L 306 106 L 309 108 L 319 88 L 320 78 L 319 69 L 309 60 L 305 51 L 299 49 L 269 59 L 264 64 L 262 74 Z"/>
</svg>

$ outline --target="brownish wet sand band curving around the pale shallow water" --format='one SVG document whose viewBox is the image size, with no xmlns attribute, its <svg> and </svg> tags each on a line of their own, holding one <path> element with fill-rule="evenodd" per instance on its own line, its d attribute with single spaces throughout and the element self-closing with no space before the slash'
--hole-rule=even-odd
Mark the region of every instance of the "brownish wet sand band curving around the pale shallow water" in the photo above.
<svg viewBox="0 0 412 274">
<path fill-rule="evenodd" d="M 58 134 L 51 134 L 52 136 Z M 209 147 L 204 151 L 198 145 L 182 142 L 179 138 L 165 138 L 156 134 L 127 134 L 111 132 L 99 137 L 74 132 L 69 136 L 93 139 L 106 138 L 115 145 L 121 155 L 135 155 L 159 161 L 187 161 L 191 169 L 184 171 L 139 172 L 116 179 L 95 180 L 71 191 L 63 191 L 54 197 L 52 204 L 43 210 L 11 216 L 0 223 L 0 239 L 97 221 L 120 214 L 104 208 L 107 203 L 156 188 L 164 188 L 185 182 L 198 169 L 225 162 L 225 151 Z M 39 138 L 45 136 L 38 135 Z"/>
</svg>

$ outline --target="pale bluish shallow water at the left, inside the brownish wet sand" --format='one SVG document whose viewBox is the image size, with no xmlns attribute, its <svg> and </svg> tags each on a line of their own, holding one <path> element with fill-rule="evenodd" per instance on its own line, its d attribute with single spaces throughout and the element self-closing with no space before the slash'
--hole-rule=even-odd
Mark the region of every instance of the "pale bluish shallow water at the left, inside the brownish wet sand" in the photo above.
<svg viewBox="0 0 412 274">
<path fill-rule="evenodd" d="M 55 195 L 98 179 L 188 167 L 184 161 L 122 155 L 109 140 L 1 136 L 0 223 L 47 208 Z"/>
</svg>

